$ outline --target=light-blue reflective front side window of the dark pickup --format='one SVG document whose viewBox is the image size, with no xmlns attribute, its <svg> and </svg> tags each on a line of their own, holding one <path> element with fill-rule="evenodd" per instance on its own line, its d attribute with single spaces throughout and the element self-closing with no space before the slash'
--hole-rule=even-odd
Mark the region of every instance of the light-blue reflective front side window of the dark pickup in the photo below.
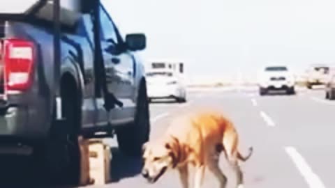
<svg viewBox="0 0 335 188">
<path fill-rule="evenodd" d="M 100 19 L 101 19 L 101 28 L 102 28 L 102 36 L 101 40 L 112 39 L 115 44 L 117 44 L 117 31 L 115 30 L 114 23 L 112 19 L 108 16 L 106 10 L 101 6 L 100 8 Z"/>
</svg>

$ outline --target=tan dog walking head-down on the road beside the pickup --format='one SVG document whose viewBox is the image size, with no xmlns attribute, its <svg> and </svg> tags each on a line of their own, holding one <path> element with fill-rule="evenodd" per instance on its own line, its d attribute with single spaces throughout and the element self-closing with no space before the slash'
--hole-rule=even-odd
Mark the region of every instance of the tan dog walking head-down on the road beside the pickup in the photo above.
<svg viewBox="0 0 335 188">
<path fill-rule="evenodd" d="M 218 111 L 177 116 L 163 136 L 143 144 L 142 176 L 152 184 L 168 169 L 177 169 L 182 187 L 188 188 L 188 166 L 193 165 L 195 188 L 202 186 L 206 168 L 218 179 L 220 187 L 225 188 L 228 180 L 218 167 L 223 152 L 237 177 L 237 187 L 241 188 L 244 178 L 239 161 L 246 162 L 253 153 L 253 147 L 245 157 L 238 147 L 239 135 L 234 124 Z"/>
</svg>

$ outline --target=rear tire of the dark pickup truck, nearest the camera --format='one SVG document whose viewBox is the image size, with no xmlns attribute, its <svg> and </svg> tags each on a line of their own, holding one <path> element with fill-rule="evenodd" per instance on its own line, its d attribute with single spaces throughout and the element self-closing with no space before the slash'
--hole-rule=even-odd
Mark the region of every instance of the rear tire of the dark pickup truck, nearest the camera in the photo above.
<svg viewBox="0 0 335 188">
<path fill-rule="evenodd" d="M 65 91 L 64 91 L 65 90 Z M 61 91 L 64 120 L 56 121 L 55 108 L 50 136 L 36 150 L 36 158 L 42 164 L 43 176 L 52 185 L 77 185 L 80 178 L 80 149 L 77 127 L 80 123 L 80 105 L 73 88 Z M 64 95 L 64 93 L 66 93 Z M 78 125 L 79 126 L 79 125 Z"/>
</svg>

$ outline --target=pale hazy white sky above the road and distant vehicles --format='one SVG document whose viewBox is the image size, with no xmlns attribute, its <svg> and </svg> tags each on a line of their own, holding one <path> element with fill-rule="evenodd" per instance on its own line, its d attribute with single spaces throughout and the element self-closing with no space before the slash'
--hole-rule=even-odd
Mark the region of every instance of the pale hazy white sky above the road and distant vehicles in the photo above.
<svg viewBox="0 0 335 188">
<path fill-rule="evenodd" d="M 260 65 L 335 63 L 333 0 L 103 0 L 122 33 L 142 31 L 149 58 L 188 59 L 188 73 L 253 75 Z"/>
</svg>

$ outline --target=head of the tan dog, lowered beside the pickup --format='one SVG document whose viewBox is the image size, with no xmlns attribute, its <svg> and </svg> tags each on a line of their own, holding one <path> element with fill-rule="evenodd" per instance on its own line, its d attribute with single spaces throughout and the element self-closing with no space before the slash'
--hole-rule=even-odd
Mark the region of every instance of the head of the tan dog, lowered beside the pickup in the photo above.
<svg viewBox="0 0 335 188">
<path fill-rule="evenodd" d="M 151 141 L 143 145 L 142 175 L 150 183 L 156 182 L 177 161 L 177 142 L 175 139 Z"/>
</svg>

